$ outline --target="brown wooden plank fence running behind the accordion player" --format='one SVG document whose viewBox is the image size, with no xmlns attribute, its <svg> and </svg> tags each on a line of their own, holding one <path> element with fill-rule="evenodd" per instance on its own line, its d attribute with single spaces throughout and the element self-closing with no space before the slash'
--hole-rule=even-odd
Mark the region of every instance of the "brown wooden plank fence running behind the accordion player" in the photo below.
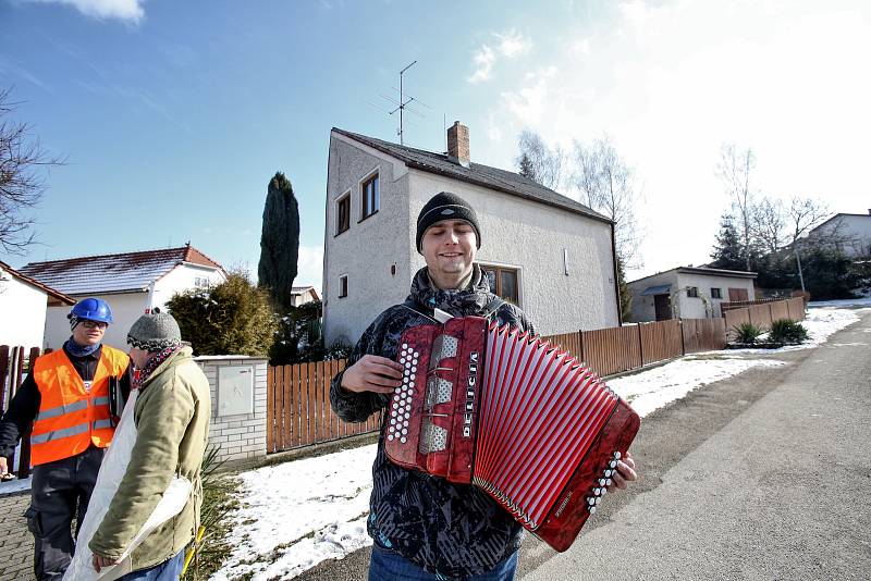
<svg viewBox="0 0 871 581">
<path fill-rule="evenodd" d="M 786 313 L 786 317 L 784 317 Z M 728 331 L 744 321 L 771 325 L 772 320 L 803 320 L 802 299 L 753 304 L 727 310 L 720 319 L 685 319 L 639 323 L 544 337 L 585 361 L 601 376 L 665 361 L 686 354 L 726 346 Z M 339 420 L 330 407 L 330 380 L 344 360 L 269 367 L 267 374 L 267 452 L 308 446 L 375 432 L 381 416 L 364 423 Z"/>
</svg>

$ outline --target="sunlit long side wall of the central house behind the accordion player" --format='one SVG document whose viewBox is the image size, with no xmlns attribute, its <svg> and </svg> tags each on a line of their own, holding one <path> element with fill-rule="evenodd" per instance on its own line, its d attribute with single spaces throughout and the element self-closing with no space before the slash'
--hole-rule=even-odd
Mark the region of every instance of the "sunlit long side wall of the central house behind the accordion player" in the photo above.
<svg viewBox="0 0 871 581">
<path fill-rule="evenodd" d="M 519 307 L 542 335 L 616 326 L 618 323 L 611 225 L 459 180 L 410 171 L 409 214 L 442 190 L 467 200 L 478 214 L 477 261 L 517 269 Z M 415 231 L 407 234 L 415 249 Z M 563 250 L 568 251 L 565 274 Z M 426 265 L 412 255 L 410 271 Z"/>
</svg>

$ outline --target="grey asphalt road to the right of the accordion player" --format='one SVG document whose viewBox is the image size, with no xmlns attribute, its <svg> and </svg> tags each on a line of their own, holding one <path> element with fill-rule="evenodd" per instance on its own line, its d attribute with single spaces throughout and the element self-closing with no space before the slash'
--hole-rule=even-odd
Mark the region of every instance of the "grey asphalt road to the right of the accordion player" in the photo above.
<svg viewBox="0 0 871 581">
<path fill-rule="evenodd" d="M 648 416 L 641 478 L 518 579 L 871 579 L 871 312 Z M 366 579 L 369 549 L 297 579 Z"/>
</svg>

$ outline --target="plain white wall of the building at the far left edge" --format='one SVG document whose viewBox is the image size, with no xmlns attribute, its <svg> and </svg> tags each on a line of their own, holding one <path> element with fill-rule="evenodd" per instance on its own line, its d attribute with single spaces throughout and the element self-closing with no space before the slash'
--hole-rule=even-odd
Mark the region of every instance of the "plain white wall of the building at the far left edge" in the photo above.
<svg viewBox="0 0 871 581">
<path fill-rule="evenodd" d="M 0 345 L 41 347 L 46 329 L 46 293 L 9 273 L 0 281 Z"/>
</svg>

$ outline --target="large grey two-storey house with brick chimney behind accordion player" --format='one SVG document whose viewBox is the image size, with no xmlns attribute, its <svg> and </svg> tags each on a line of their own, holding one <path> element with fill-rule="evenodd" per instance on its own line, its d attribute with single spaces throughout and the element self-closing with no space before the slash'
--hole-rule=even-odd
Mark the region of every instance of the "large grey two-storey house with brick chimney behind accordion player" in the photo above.
<svg viewBox="0 0 871 581">
<path fill-rule="evenodd" d="M 496 294 L 540 334 L 619 324 L 614 228 L 605 217 L 519 174 L 473 163 L 468 128 L 433 153 L 333 128 L 327 181 L 323 324 L 327 345 L 354 343 L 405 300 L 426 264 L 415 245 L 420 208 L 439 191 L 475 208 L 478 262 Z"/>
</svg>

